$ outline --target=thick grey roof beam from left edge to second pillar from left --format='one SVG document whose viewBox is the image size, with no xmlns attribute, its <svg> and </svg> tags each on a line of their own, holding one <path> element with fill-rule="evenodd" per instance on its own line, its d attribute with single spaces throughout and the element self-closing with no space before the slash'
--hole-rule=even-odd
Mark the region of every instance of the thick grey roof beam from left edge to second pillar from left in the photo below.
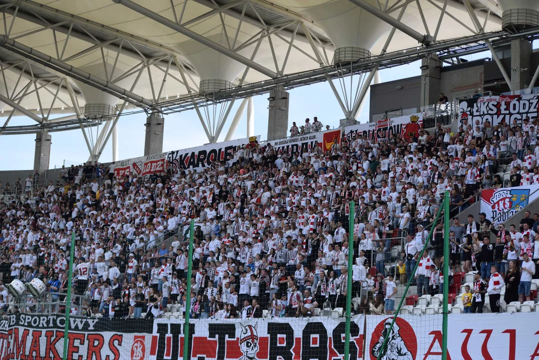
<svg viewBox="0 0 539 360">
<path fill-rule="evenodd" d="M 6 50 L 9 50 L 11 52 L 15 52 L 19 55 L 22 55 L 25 58 L 27 57 L 27 58 L 36 60 L 42 63 L 42 65 L 46 67 L 51 67 L 53 69 L 56 69 L 60 73 L 71 76 L 74 79 L 77 79 L 91 86 L 96 87 L 96 84 L 97 84 L 99 87 L 105 89 L 105 91 L 108 90 L 107 92 L 114 93 L 113 95 L 115 96 L 118 96 L 120 98 L 121 97 L 128 98 L 129 102 L 132 102 L 135 105 L 145 105 L 147 107 L 150 107 L 151 105 L 153 105 L 153 102 L 147 100 L 146 98 L 142 96 L 132 93 L 132 91 L 128 91 L 124 88 L 121 88 L 113 83 L 110 83 L 106 80 L 101 79 L 100 77 L 89 74 L 63 61 L 54 59 L 47 54 L 37 51 L 29 46 L 20 44 L 17 41 L 12 40 L 4 35 L 0 35 L 0 47 L 3 47 Z"/>
</svg>

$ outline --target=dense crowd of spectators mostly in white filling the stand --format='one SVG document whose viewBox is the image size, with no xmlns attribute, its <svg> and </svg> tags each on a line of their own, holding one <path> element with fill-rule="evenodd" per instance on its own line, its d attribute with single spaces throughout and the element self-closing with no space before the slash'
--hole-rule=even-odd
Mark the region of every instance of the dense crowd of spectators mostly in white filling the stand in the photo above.
<svg viewBox="0 0 539 360">
<path fill-rule="evenodd" d="M 310 316 L 316 307 L 342 307 L 349 291 L 354 297 L 369 294 L 363 311 L 389 314 L 397 283 L 410 278 L 416 261 L 418 294 L 440 289 L 443 227 L 431 239 L 426 228 L 446 190 L 456 215 L 479 189 L 503 185 L 492 175 L 505 157 L 513 157 L 519 185 L 539 182 L 536 125 L 525 120 L 472 128 L 465 121 L 455 133 L 438 124 L 409 138 L 376 142 L 358 133 L 326 152 L 314 146 L 277 153 L 269 144 L 248 144 L 203 171 L 170 165 L 146 177 L 116 178 L 113 166 L 99 163 L 63 168 L 60 180 L 39 188 L 33 199 L 4 196 L 0 203 L 0 280 L 37 277 L 54 301 L 65 301 L 75 232 L 73 286 L 88 300 L 88 310 L 109 317 L 158 316 L 168 304 L 185 301 L 184 227 L 194 219 L 188 309 L 194 317 L 259 317 L 260 309 L 272 316 Z M 291 135 L 296 132 L 294 125 Z M 357 204 L 353 219 L 350 200 Z M 471 270 L 476 265 L 468 262 L 478 261 L 472 253 L 481 248 L 471 235 L 490 227 L 454 221 L 452 271 Z M 350 222 L 356 257 L 351 289 L 345 281 Z M 174 234 L 169 246 L 162 242 Z M 513 251 L 510 238 L 501 237 L 503 253 Z M 396 245 L 402 252 L 395 256 Z M 488 263 L 480 265 L 487 269 L 486 281 Z M 0 296 L 7 309 L 2 285 Z"/>
</svg>

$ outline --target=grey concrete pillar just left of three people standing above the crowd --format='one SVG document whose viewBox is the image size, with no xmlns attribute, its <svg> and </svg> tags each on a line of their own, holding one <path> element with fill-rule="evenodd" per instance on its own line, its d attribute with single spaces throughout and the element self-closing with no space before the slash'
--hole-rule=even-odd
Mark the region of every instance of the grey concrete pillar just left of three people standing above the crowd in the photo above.
<svg viewBox="0 0 539 360">
<path fill-rule="evenodd" d="M 269 93 L 268 140 L 288 136 L 288 100 L 284 88 L 274 88 Z"/>
</svg>

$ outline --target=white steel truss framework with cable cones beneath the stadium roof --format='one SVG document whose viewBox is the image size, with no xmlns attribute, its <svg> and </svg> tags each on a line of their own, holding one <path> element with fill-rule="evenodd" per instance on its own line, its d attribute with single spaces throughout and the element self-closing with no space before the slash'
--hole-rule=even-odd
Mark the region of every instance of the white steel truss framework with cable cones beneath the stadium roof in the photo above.
<svg viewBox="0 0 539 360">
<path fill-rule="evenodd" d="M 22 90 L 18 90 L 18 94 L 11 94 L 11 96 L 8 96 L 9 100 L 16 105 L 16 103 L 20 102 L 24 96 L 35 93 L 39 101 L 39 90 L 47 91 L 47 93 L 54 96 L 57 104 L 61 103 L 63 109 L 67 108 L 68 110 L 72 110 L 76 115 L 72 119 L 67 120 L 63 119 L 56 122 L 54 120 L 49 120 L 49 116 L 54 114 L 54 111 L 57 110 L 54 108 L 53 101 L 53 104 L 51 104 L 48 111 L 43 109 L 41 105 L 39 106 L 39 110 L 31 111 L 32 114 L 37 113 L 38 118 L 42 120 L 38 121 L 38 118 L 34 118 L 39 124 L 12 128 L 11 126 L 7 126 L 10 118 L 13 115 L 23 114 L 23 109 L 20 109 L 20 107 L 12 107 L 13 111 L 11 111 L 4 126 L 0 128 L 0 134 L 38 132 L 40 129 L 45 128 L 45 126 L 49 131 L 81 128 L 85 135 L 89 153 L 91 154 L 91 157 L 95 157 L 99 156 L 100 150 L 102 151 L 102 147 L 106 144 L 106 140 L 112 135 L 114 126 L 112 126 L 112 128 L 110 126 L 117 123 L 120 116 L 127 114 L 127 112 L 124 112 L 126 109 L 141 107 L 143 108 L 143 111 L 146 111 L 148 114 L 152 111 L 171 114 L 174 112 L 195 109 L 209 141 L 215 142 L 218 139 L 220 132 L 223 129 L 223 125 L 230 114 L 232 105 L 237 98 L 247 98 L 253 95 L 264 94 L 275 86 L 292 89 L 322 81 L 329 82 L 337 101 L 341 105 L 344 116 L 353 118 L 357 116 L 358 109 L 361 108 L 361 103 L 367 94 L 370 82 L 377 69 L 416 61 L 431 53 L 437 53 L 441 59 L 448 62 L 448 60 L 465 53 L 484 51 L 486 49 L 485 40 L 488 40 L 489 43 L 493 43 L 493 46 L 496 46 L 497 43 L 502 43 L 503 41 L 507 42 L 514 37 L 530 37 L 538 32 L 537 30 L 535 30 L 535 32 L 534 30 L 531 30 L 519 34 L 509 34 L 502 31 L 486 34 L 481 33 L 479 28 L 482 30 L 482 28 L 485 27 L 490 15 L 490 10 L 492 9 L 489 9 L 485 18 L 485 23 L 482 27 L 480 24 L 479 26 L 476 24 L 474 19 L 476 16 L 472 9 L 470 16 L 475 27 L 474 31 L 472 28 L 462 23 L 457 17 L 453 16 L 450 11 L 447 11 L 448 3 L 451 3 L 452 8 L 457 6 L 455 5 L 457 3 L 454 0 L 427 0 L 429 3 L 440 9 L 436 30 L 427 27 L 418 0 L 398 0 L 389 7 L 388 1 L 380 0 L 378 8 L 367 4 L 364 0 L 350 0 L 352 3 L 392 25 L 393 30 L 386 40 L 386 44 L 380 55 L 368 59 L 361 59 L 346 67 L 339 67 L 331 65 L 327 51 L 333 51 L 333 45 L 328 39 L 323 37 L 323 31 L 316 24 L 299 13 L 282 8 L 267 0 L 185 0 L 179 4 L 175 4 L 178 3 L 178 1 L 170 0 L 171 6 L 168 10 L 170 13 L 167 17 L 163 16 L 164 12 L 157 15 L 149 9 L 142 8 L 142 6 L 137 5 L 130 0 L 111 1 L 122 3 L 135 11 L 144 13 L 144 15 L 154 19 L 156 22 L 164 24 L 177 32 L 186 34 L 206 46 L 214 48 L 216 51 L 244 63 L 247 66 L 245 72 L 241 77 L 234 81 L 234 88 L 212 94 L 198 94 L 198 82 L 193 78 L 194 76 L 197 76 L 196 73 L 190 64 L 184 60 L 182 54 L 174 48 L 155 43 L 148 39 L 133 36 L 132 34 L 116 30 L 113 27 L 95 23 L 91 20 L 74 16 L 70 13 L 31 0 L 0 0 L 0 11 L 3 12 L 4 16 L 4 35 L 2 39 L 5 40 L 3 44 L 0 44 L 0 59 L 4 60 L 4 52 L 15 57 L 15 60 L 11 59 L 11 61 L 0 62 L 0 65 L 3 67 L 3 69 L 0 68 L 0 71 L 2 74 L 5 69 L 15 70 L 16 72 L 19 71 L 23 74 L 22 79 L 31 80 L 33 82 L 33 86 L 30 85 L 29 87 L 24 87 Z M 209 8 L 209 11 L 192 19 L 185 19 L 185 8 L 189 2 L 203 4 Z M 436 2 L 440 3 L 440 5 Z M 402 17 L 406 6 L 411 3 L 417 4 L 424 25 L 425 35 L 400 22 L 400 18 Z M 467 8 L 466 5 L 459 4 L 460 5 L 458 6 L 461 6 L 461 9 L 469 11 L 469 8 Z M 270 11 L 273 14 L 278 15 L 280 20 L 275 21 L 273 18 L 272 23 L 270 24 L 266 18 L 261 16 L 262 11 Z M 496 11 L 492 11 L 499 16 Z M 12 19 L 8 22 L 6 22 L 6 14 L 12 16 Z M 195 24 L 205 18 L 218 16 L 222 24 L 222 31 L 226 34 L 227 30 L 223 15 L 231 16 L 238 20 L 235 34 L 230 34 L 231 38 L 233 37 L 233 40 L 227 40 L 228 44 L 226 44 L 226 46 L 213 43 L 202 35 L 194 33 L 186 28 L 186 26 Z M 437 42 L 436 38 L 444 16 L 457 21 L 473 35 L 450 41 Z M 12 25 L 16 21 L 16 18 L 24 19 L 41 27 L 37 30 L 31 30 L 26 33 L 11 36 Z M 170 20 L 171 18 L 173 20 Z M 238 45 L 238 34 L 243 23 L 254 25 L 260 29 L 260 31 L 243 44 Z M 403 51 L 385 53 L 396 29 L 403 31 L 423 45 Z M 56 55 L 49 56 L 50 54 L 47 54 L 46 56 L 49 56 L 48 59 L 41 56 L 45 54 L 39 54 L 39 52 L 36 52 L 31 48 L 19 44 L 20 38 L 24 38 L 25 36 L 40 31 L 53 32 Z M 420 31 L 423 31 L 423 29 Z M 57 41 L 57 33 L 62 33 L 66 36 L 63 46 L 60 46 Z M 433 35 L 431 35 L 431 33 L 433 33 Z M 83 40 L 88 43 L 89 46 L 77 54 L 65 57 L 66 46 L 70 38 Z M 226 39 L 228 38 L 229 36 L 226 34 Z M 284 61 L 281 63 L 279 63 L 278 57 L 275 54 L 273 42 L 276 39 L 284 41 L 288 47 Z M 267 41 L 271 50 L 274 68 L 272 66 L 260 66 L 254 59 L 256 51 L 263 40 Z M 310 51 L 302 50 L 302 48 L 298 46 L 298 43 L 309 44 Z M 243 57 L 238 53 L 243 48 L 251 45 L 255 45 L 255 50 L 250 58 Z M 66 68 L 66 66 L 69 67 L 69 65 L 67 65 L 68 61 L 92 52 L 100 52 L 103 64 L 105 65 L 106 60 L 104 50 L 110 50 L 116 53 L 114 66 L 112 70 L 106 74 L 106 79 L 96 79 L 95 76 L 85 77 L 85 74 L 81 74 L 79 69 L 73 67 Z M 318 63 L 320 68 L 296 74 L 286 74 L 286 65 L 292 50 L 298 51 L 315 63 Z M 118 62 L 120 54 L 138 61 L 135 66 L 124 74 L 118 74 L 118 71 L 116 70 L 116 63 Z M 106 66 L 105 69 L 107 69 Z M 257 83 L 246 83 L 245 77 L 250 69 L 265 74 L 270 80 Z M 36 70 L 39 70 L 38 74 L 34 74 L 36 73 Z M 173 71 L 175 73 L 172 73 Z M 154 74 L 163 74 L 163 79 L 160 84 L 154 84 L 152 72 Z M 144 73 L 147 74 L 150 83 L 150 99 L 144 99 L 137 94 L 133 94 L 134 87 L 132 90 L 126 90 L 117 85 L 118 82 L 132 75 L 136 75 L 137 79 L 140 79 L 141 75 L 146 76 Z M 179 76 L 177 75 L 178 73 Z M 81 75 L 84 75 L 82 76 L 82 79 Z M 340 81 L 343 81 L 344 77 L 351 77 L 351 75 L 359 75 L 359 77 L 363 79 L 361 90 L 358 86 L 355 94 L 348 94 L 348 91 L 352 91 L 351 87 L 350 89 L 345 89 L 343 87 L 342 95 L 338 94 L 333 80 L 341 79 Z M 81 107 L 78 103 L 80 93 L 73 83 L 70 84 L 68 81 L 69 78 L 77 79 L 79 81 L 85 80 L 86 83 L 91 86 L 95 86 L 103 91 L 112 91 L 115 96 L 122 98 L 124 102 L 119 107 L 120 111 L 118 114 L 110 119 L 101 119 L 97 124 L 82 119 Z M 188 94 L 185 96 L 177 95 L 176 98 L 169 100 L 169 97 L 165 95 L 167 80 L 172 80 L 181 84 L 185 87 Z M 24 82 L 21 83 L 21 86 L 23 84 Z M 58 96 L 58 93 L 70 95 L 71 101 L 64 100 L 62 97 Z M 345 100 L 343 101 L 343 99 Z M 215 108 L 217 105 L 222 107 L 222 110 L 215 111 L 215 114 L 218 115 L 212 116 L 209 107 L 213 106 Z M 85 129 L 87 129 L 87 131 L 92 127 L 99 129 L 101 123 L 105 123 L 105 125 L 103 126 L 101 133 L 95 134 L 95 139 L 93 135 L 86 133 Z"/>
</svg>

